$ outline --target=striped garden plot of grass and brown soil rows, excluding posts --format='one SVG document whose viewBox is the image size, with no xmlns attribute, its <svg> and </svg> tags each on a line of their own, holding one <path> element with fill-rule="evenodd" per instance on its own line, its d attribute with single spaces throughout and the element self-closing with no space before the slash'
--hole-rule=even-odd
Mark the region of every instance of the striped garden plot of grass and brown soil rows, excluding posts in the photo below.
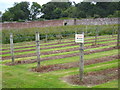
<svg viewBox="0 0 120 90">
<path fill-rule="evenodd" d="M 117 88 L 119 58 L 116 47 L 117 39 L 116 37 L 108 37 L 105 39 L 104 36 L 101 36 L 102 39 L 99 39 L 96 46 L 93 45 L 94 39 L 86 39 L 85 79 L 83 82 L 79 82 L 78 79 L 79 44 L 75 44 L 72 39 L 70 39 L 72 42 L 66 40 L 66 43 L 52 42 L 51 44 L 49 42 L 49 44 L 41 44 L 41 48 L 43 48 L 41 50 L 42 62 L 41 68 L 38 70 L 36 69 L 35 46 L 33 46 L 34 48 L 28 46 L 29 48 L 26 49 L 24 48 L 26 46 L 18 45 L 17 50 L 15 50 L 15 64 L 11 63 L 9 47 L 3 47 L 3 87 L 88 88 L 96 87 L 96 85 L 102 87 L 103 84 L 111 82 L 114 85 L 116 84 L 115 87 Z M 91 78 L 93 77 L 95 80 L 92 81 Z M 109 84 L 106 87 L 110 88 Z"/>
</svg>

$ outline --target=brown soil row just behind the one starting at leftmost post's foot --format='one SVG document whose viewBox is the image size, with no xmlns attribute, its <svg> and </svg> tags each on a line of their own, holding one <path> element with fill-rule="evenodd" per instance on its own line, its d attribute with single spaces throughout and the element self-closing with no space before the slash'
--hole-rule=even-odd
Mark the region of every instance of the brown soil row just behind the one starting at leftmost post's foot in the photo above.
<svg viewBox="0 0 120 90">
<path fill-rule="evenodd" d="M 89 45 L 89 46 L 84 47 L 84 49 L 97 48 L 97 47 L 101 47 L 101 46 L 108 46 L 108 45 L 113 45 L 115 43 L 116 42 L 114 42 L 114 43 L 113 42 L 112 43 L 107 43 L 107 44 L 98 44 L 96 46 Z M 79 50 L 79 47 L 70 48 L 70 49 L 63 49 L 63 50 L 53 50 L 53 51 L 48 51 L 48 52 L 42 52 L 41 55 L 50 55 L 50 54 L 55 54 L 55 53 L 63 53 L 63 52 L 70 52 L 70 51 L 77 51 L 77 50 Z M 26 51 L 29 51 L 29 50 L 22 50 L 22 51 L 19 51 L 19 52 L 26 52 Z M 29 57 L 29 56 L 36 56 L 36 53 L 17 55 L 17 56 L 15 56 L 15 58 Z M 4 57 L 2 57 L 2 60 L 9 59 L 9 58 L 11 58 L 11 56 L 4 56 Z"/>
</svg>

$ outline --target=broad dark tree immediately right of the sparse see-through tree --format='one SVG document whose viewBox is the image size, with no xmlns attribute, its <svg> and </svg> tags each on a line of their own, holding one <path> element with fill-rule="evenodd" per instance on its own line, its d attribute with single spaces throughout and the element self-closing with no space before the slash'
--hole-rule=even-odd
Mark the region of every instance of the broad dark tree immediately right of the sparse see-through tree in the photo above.
<svg viewBox="0 0 120 90">
<path fill-rule="evenodd" d="M 66 9 L 71 7 L 71 2 L 48 2 L 42 6 L 42 16 L 45 19 L 58 19 L 62 17 L 62 14 Z"/>
</svg>

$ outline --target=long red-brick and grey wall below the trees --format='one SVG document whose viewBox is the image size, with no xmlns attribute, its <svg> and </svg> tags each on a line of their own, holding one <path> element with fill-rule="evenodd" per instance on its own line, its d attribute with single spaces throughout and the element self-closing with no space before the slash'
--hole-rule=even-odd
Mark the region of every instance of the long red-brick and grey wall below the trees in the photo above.
<svg viewBox="0 0 120 90">
<path fill-rule="evenodd" d="M 3 29 L 11 28 L 30 28 L 30 27 L 49 27 L 62 26 L 64 22 L 67 25 L 74 25 L 74 20 L 47 20 L 47 21 L 32 21 L 32 22 L 12 22 L 0 23 Z M 104 24 L 118 24 L 118 18 L 97 18 L 97 19 L 81 19 L 76 20 L 76 25 L 104 25 Z"/>
</svg>

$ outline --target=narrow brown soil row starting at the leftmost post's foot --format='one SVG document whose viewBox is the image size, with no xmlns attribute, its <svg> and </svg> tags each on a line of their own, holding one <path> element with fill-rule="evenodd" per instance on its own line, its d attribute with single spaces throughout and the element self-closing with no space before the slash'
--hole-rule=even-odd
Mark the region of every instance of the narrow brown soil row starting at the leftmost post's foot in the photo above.
<svg viewBox="0 0 120 90">
<path fill-rule="evenodd" d="M 114 50 L 118 49 L 117 47 L 110 47 L 110 48 L 104 48 L 104 49 L 99 49 L 99 50 L 92 50 L 92 51 L 87 51 L 84 54 L 92 54 L 92 53 L 97 53 L 97 52 L 103 52 L 103 51 L 109 51 L 109 50 Z M 67 55 L 59 55 L 59 56 L 51 56 L 51 57 L 45 57 L 41 58 L 41 61 L 45 60 L 53 60 L 53 59 L 62 59 L 62 58 L 67 58 L 67 57 L 73 57 L 73 56 L 78 56 L 79 53 L 73 53 L 73 54 L 67 54 Z M 17 64 L 29 64 L 29 63 L 34 63 L 37 62 L 36 59 L 33 60 L 22 60 L 22 61 L 15 61 L 14 63 L 6 63 L 6 65 L 17 65 Z"/>
</svg>

